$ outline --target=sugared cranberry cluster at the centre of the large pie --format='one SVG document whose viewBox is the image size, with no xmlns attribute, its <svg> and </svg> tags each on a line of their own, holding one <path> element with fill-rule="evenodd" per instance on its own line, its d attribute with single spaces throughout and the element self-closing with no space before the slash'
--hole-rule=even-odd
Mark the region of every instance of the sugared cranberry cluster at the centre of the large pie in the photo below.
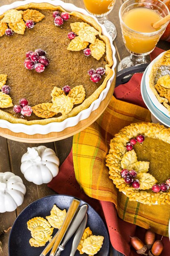
<svg viewBox="0 0 170 256">
<path fill-rule="evenodd" d="M 26 52 L 24 66 L 27 70 L 35 69 L 38 73 L 43 72 L 45 67 L 50 64 L 49 59 L 45 55 L 46 52 L 43 49 L 36 49 L 35 52 Z"/>
</svg>

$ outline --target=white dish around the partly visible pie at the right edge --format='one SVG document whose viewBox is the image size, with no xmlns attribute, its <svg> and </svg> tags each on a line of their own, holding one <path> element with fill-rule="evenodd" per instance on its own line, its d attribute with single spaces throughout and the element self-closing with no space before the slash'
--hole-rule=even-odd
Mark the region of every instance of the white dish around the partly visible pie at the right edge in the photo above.
<svg viewBox="0 0 170 256">
<path fill-rule="evenodd" d="M 157 58 L 155 58 L 148 65 L 148 70 L 147 70 L 146 76 L 145 76 L 145 84 L 146 84 L 147 94 L 148 94 L 152 104 L 155 106 L 155 108 L 159 109 L 159 111 L 162 113 L 162 115 L 165 115 L 166 117 L 170 118 L 170 112 L 168 111 L 168 109 L 166 107 L 163 106 L 163 104 L 161 104 L 158 101 L 157 97 L 155 96 L 154 92 L 152 91 L 152 89 L 150 88 L 150 85 L 149 85 L 149 75 L 150 75 L 150 72 L 152 70 L 152 66 L 155 64 L 156 61 L 158 61 L 163 56 L 163 54 L 164 54 L 164 52 L 159 54 L 159 56 L 157 56 Z"/>
</svg>

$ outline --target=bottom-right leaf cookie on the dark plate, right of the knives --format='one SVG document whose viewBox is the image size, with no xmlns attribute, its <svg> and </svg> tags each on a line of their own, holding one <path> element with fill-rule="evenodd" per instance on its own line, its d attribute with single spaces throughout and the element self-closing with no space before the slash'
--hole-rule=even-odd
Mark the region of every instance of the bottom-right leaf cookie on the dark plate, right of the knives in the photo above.
<svg viewBox="0 0 170 256">
<path fill-rule="evenodd" d="M 103 236 L 89 236 L 84 240 L 82 252 L 88 255 L 94 255 L 99 252 L 103 245 Z"/>
</svg>

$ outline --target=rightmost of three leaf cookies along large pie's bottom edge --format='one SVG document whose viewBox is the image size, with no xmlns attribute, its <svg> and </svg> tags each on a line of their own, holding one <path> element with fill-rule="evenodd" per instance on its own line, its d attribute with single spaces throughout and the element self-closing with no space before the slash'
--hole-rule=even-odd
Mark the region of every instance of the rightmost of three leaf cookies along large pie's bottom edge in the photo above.
<svg viewBox="0 0 170 256">
<path fill-rule="evenodd" d="M 85 99 L 86 92 L 83 85 L 77 85 L 68 93 L 68 96 L 75 100 L 74 104 L 82 103 Z"/>
</svg>

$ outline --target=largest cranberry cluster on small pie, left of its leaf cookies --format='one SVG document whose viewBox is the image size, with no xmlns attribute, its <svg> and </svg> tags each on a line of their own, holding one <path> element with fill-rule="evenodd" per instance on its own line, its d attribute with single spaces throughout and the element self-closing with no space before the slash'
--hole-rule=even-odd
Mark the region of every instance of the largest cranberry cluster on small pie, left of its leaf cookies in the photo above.
<svg viewBox="0 0 170 256">
<path fill-rule="evenodd" d="M 135 170 L 128 171 L 127 169 L 121 170 L 121 176 L 124 178 L 124 181 L 127 184 L 132 184 L 132 186 L 135 189 L 139 189 L 140 183 L 139 180 L 134 180 L 134 178 L 137 176 L 137 172 Z"/>
</svg>

